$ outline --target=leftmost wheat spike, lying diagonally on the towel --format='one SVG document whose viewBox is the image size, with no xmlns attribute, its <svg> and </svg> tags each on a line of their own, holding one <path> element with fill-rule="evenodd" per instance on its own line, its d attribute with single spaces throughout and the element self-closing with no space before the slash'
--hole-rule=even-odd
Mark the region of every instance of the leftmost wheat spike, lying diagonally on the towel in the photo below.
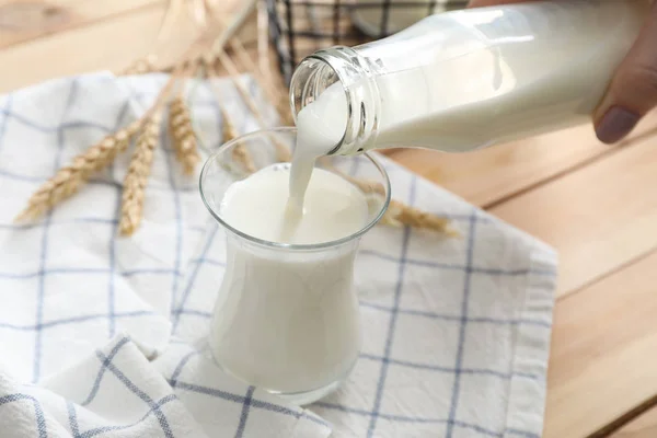
<svg viewBox="0 0 657 438">
<path fill-rule="evenodd" d="M 116 134 L 105 137 L 73 158 L 70 164 L 59 169 L 32 195 L 27 207 L 16 217 L 16 221 L 36 219 L 77 193 L 92 173 L 110 165 L 118 153 L 126 150 L 139 125 L 139 120 L 134 122 Z"/>
</svg>

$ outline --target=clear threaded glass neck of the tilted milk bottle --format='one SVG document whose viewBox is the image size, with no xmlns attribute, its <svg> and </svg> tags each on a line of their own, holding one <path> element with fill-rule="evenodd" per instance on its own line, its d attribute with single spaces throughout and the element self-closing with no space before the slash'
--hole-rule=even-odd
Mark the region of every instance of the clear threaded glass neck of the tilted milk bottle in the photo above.
<svg viewBox="0 0 657 438">
<path fill-rule="evenodd" d="M 295 120 L 299 112 L 316 101 L 328 87 L 337 87 L 346 101 L 346 127 L 342 141 L 328 154 L 349 155 L 371 149 L 381 120 L 381 99 L 376 81 L 380 70 L 381 66 L 372 58 L 364 57 L 350 47 L 315 51 L 301 61 L 292 76 L 290 105 Z"/>
</svg>

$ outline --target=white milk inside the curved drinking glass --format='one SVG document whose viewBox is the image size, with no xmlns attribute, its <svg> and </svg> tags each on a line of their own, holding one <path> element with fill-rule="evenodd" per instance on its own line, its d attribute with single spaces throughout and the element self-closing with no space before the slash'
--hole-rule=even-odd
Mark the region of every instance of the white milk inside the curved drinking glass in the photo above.
<svg viewBox="0 0 657 438">
<path fill-rule="evenodd" d="M 290 219 L 289 180 L 289 164 L 274 164 L 233 183 L 221 217 L 254 238 L 297 244 L 335 241 L 367 224 L 365 195 L 322 169 L 312 172 L 302 214 Z M 351 290 L 357 245 L 349 240 L 321 250 L 286 250 L 229 233 L 210 331 L 218 362 L 275 392 L 306 392 L 342 380 L 360 345 Z"/>
</svg>

